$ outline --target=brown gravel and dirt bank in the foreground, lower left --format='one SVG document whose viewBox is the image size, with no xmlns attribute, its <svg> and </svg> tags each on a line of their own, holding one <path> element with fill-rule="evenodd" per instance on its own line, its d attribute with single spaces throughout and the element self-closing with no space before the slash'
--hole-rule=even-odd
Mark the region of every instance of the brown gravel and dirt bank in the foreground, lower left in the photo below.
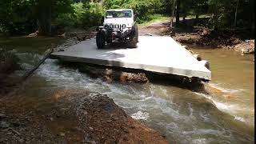
<svg viewBox="0 0 256 144">
<path fill-rule="evenodd" d="M 60 90 L 46 106 L 0 99 L 3 143 L 168 143 L 135 121 L 113 99 L 89 91 Z M 139 136 L 138 136 L 139 135 Z"/>
</svg>

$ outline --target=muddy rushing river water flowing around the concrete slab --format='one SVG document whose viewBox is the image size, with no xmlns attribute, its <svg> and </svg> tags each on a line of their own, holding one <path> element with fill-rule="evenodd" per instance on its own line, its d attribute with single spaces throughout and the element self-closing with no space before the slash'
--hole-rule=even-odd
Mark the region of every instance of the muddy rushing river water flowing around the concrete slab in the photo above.
<svg viewBox="0 0 256 144">
<path fill-rule="evenodd" d="M 24 69 L 17 75 L 34 66 L 50 42 L 59 42 L 39 38 L 34 41 L 45 49 L 37 50 L 30 44 L 15 44 L 19 41 L 23 39 L 0 42 L 17 50 Z M 254 143 L 254 62 L 230 51 L 194 51 L 210 61 L 209 94 L 154 83 L 103 82 L 48 59 L 18 90 L 18 101 L 43 107 L 58 90 L 97 91 L 114 98 L 133 118 L 165 134 L 171 143 Z"/>
</svg>

